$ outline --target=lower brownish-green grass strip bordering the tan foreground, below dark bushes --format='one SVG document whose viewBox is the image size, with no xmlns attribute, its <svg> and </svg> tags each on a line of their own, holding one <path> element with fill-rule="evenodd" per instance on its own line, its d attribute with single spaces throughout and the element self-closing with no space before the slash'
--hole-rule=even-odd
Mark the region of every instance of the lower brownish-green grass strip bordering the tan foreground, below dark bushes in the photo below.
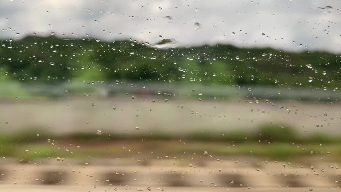
<svg viewBox="0 0 341 192">
<path fill-rule="evenodd" d="M 318 155 L 329 156 L 330 160 L 340 162 L 340 143 L 328 143 L 320 145 L 317 143 L 226 143 L 226 142 L 203 142 L 187 141 L 185 144 L 177 140 L 162 141 L 141 141 L 141 140 L 118 140 L 115 143 L 94 143 L 73 141 L 72 145 L 67 141 L 53 141 L 54 143 L 15 143 L 1 146 L 1 157 L 18 158 L 23 163 L 37 158 L 72 158 L 87 160 L 89 156 L 99 158 L 117 158 L 131 156 L 132 152 L 142 154 L 162 153 L 164 155 L 198 154 L 203 151 L 209 154 L 222 156 L 254 156 L 270 158 L 273 160 L 285 160 L 300 158 L 302 156 Z M 121 144 L 121 145 L 120 145 Z M 0 144 L 1 145 L 1 144 Z M 77 147 L 77 146 L 80 147 Z M 125 148 L 122 148 L 122 145 Z M 26 149 L 28 152 L 26 152 Z"/>
</svg>

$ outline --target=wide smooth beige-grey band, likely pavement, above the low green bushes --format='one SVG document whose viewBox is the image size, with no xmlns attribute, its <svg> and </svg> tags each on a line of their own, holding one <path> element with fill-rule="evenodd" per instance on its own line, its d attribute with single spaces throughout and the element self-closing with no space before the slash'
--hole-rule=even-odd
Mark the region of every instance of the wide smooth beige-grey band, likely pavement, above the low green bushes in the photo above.
<svg viewBox="0 0 341 192">
<path fill-rule="evenodd" d="M 40 128 L 57 134 L 102 130 L 119 134 L 254 129 L 263 123 L 290 124 L 301 134 L 325 132 L 341 135 L 341 103 L 269 103 L 235 100 L 173 100 L 150 96 L 64 100 L 6 100 L 0 102 L 0 128 L 15 133 Z M 93 100 L 92 100 L 93 99 Z M 156 100 L 153 102 L 153 100 Z M 116 109 L 113 109 L 116 106 Z M 135 130 L 139 127 L 139 131 Z"/>
</svg>

